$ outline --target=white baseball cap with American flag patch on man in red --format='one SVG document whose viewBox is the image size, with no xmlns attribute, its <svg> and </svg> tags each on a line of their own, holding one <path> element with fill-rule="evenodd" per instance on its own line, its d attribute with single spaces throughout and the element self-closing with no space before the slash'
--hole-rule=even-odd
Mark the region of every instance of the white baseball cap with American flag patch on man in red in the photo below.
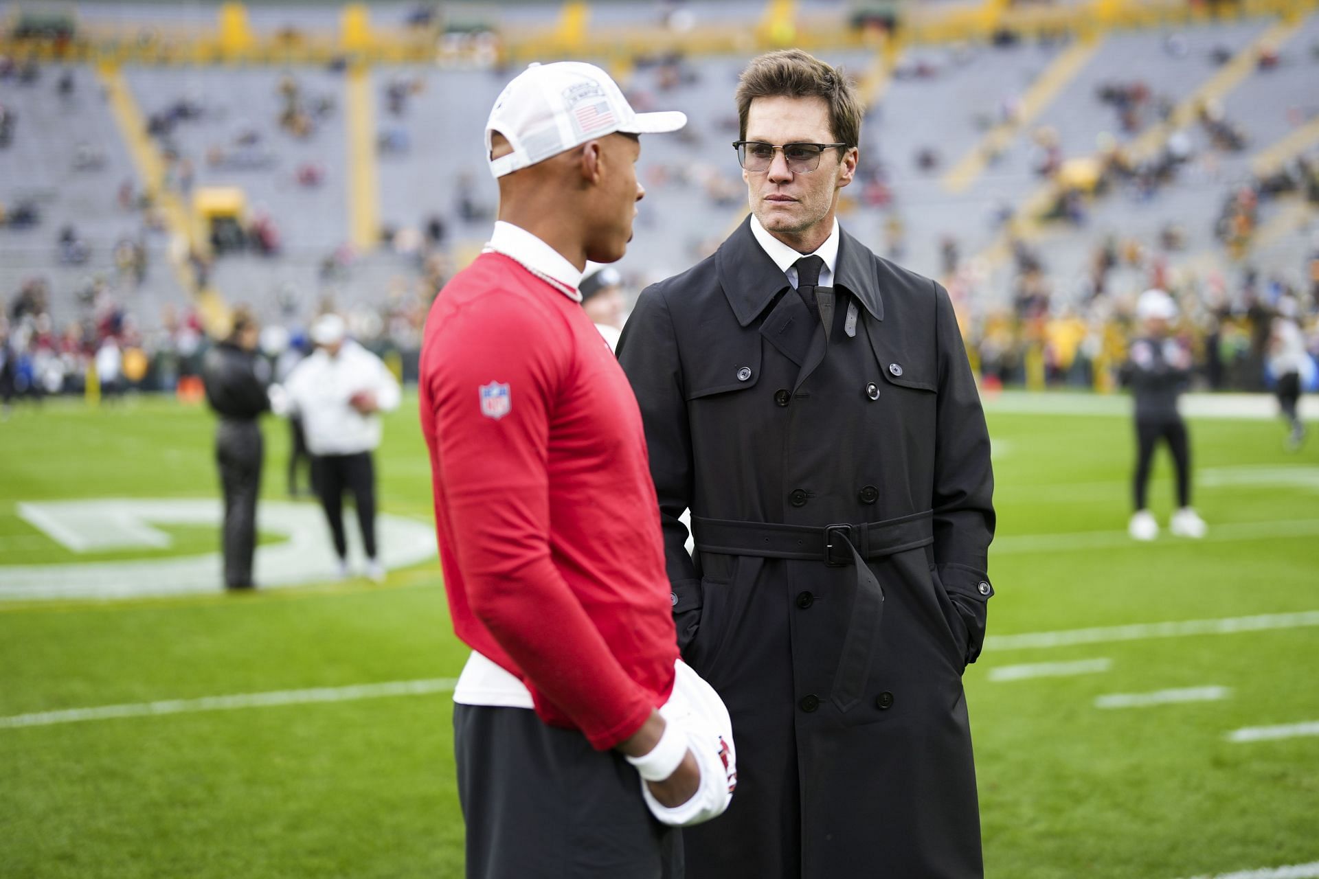
<svg viewBox="0 0 1319 879">
<path fill-rule="evenodd" d="M 658 134 L 686 124 L 687 115 L 678 111 L 636 112 L 613 78 L 595 65 L 533 63 L 496 99 L 485 121 L 485 154 L 493 132 L 513 148 L 489 159 L 491 174 L 499 178 L 613 132 Z"/>
</svg>

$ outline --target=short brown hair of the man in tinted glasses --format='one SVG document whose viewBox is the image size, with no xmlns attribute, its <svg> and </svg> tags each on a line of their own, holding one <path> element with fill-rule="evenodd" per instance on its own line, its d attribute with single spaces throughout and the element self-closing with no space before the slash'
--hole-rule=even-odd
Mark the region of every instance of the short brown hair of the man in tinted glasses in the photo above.
<svg viewBox="0 0 1319 879">
<path fill-rule="evenodd" d="M 834 140 L 848 146 L 861 142 L 861 100 L 842 69 L 801 49 L 781 49 L 752 58 L 737 80 L 739 137 L 747 140 L 747 115 L 757 98 L 823 98 Z"/>
</svg>

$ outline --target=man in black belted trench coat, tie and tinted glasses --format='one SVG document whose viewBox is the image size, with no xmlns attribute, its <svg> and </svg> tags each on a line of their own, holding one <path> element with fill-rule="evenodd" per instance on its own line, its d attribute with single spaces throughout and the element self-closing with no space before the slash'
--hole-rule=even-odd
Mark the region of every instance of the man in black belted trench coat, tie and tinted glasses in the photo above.
<svg viewBox="0 0 1319 879">
<path fill-rule="evenodd" d="M 683 832 L 687 875 L 979 876 L 962 672 L 993 476 L 952 306 L 835 220 L 861 117 L 839 71 L 762 55 L 737 105 L 752 216 L 645 290 L 619 347 L 679 644 L 737 730 L 737 796 Z"/>
</svg>

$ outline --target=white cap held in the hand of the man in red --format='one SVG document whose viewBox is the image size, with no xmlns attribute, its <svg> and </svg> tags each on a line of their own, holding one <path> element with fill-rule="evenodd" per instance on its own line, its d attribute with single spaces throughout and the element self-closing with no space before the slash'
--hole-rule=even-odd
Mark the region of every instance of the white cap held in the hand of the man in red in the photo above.
<svg viewBox="0 0 1319 879">
<path fill-rule="evenodd" d="M 686 735 L 687 749 L 700 767 L 700 787 L 690 800 L 671 809 L 654 799 L 645 780 L 641 796 L 661 824 L 686 828 L 718 818 L 732 803 L 737 787 L 737 751 L 728 709 L 715 688 L 681 659 L 674 673 L 673 695 L 660 708 L 660 714 L 665 723 Z"/>
</svg>

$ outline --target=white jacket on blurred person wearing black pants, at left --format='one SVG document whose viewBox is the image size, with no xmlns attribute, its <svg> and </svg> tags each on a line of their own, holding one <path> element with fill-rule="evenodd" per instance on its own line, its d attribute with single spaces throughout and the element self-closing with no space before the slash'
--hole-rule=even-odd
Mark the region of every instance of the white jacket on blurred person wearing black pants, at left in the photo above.
<svg viewBox="0 0 1319 879">
<path fill-rule="evenodd" d="M 294 366 L 284 391 L 288 407 L 302 415 L 313 455 L 375 451 L 380 445 L 380 415 L 363 415 L 348 401 L 359 391 L 371 391 L 380 411 L 388 412 L 402 398 L 398 381 L 380 357 L 351 339 L 344 340 L 334 357 L 318 348 Z"/>
</svg>

